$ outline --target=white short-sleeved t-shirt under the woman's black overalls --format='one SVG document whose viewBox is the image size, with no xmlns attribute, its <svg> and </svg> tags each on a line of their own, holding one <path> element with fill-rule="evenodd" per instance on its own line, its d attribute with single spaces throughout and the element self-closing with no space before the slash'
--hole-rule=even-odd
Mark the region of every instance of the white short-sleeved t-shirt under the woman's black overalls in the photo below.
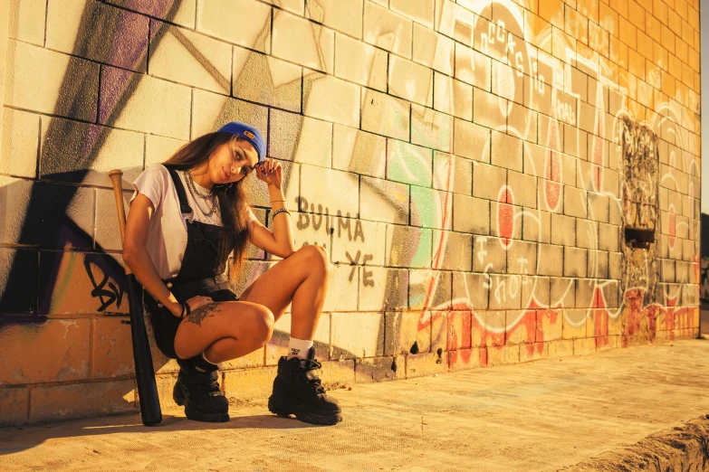
<svg viewBox="0 0 709 472">
<path fill-rule="evenodd" d="M 196 197 L 185 181 L 182 172 L 177 172 L 187 194 L 187 203 L 192 207 L 192 213 L 187 215 L 197 222 L 216 224 L 222 226 L 222 217 L 219 209 L 206 216 L 212 209 L 211 199 Z M 195 187 L 200 194 L 208 194 L 209 190 L 195 182 Z M 140 194 L 150 199 L 155 207 L 155 212 L 150 219 L 150 231 L 146 248 L 150 254 L 158 275 L 162 279 L 177 277 L 182 267 L 182 258 L 187 248 L 187 216 L 179 210 L 177 189 L 172 182 L 168 168 L 162 164 L 150 165 L 133 183 L 135 192 L 130 197 L 130 202 Z M 130 212 L 130 210 L 129 210 Z M 254 212 L 249 208 L 249 220 L 256 220 Z"/>
</svg>

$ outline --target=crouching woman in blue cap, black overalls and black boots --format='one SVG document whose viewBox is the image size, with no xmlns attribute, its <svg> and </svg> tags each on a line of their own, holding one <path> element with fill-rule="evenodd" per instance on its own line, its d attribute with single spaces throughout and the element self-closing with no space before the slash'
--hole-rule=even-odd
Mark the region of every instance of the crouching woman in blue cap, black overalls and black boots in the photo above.
<svg viewBox="0 0 709 472">
<path fill-rule="evenodd" d="M 325 394 L 312 338 L 328 285 L 329 262 L 318 246 L 294 250 L 281 164 L 266 159 L 261 133 L 232 122 L 150 165 L 133 184 L 123 260 L 146 288 L 160 351 L 177 359 L 173 399 L 191 420 L 227 421 L 217 363 L 268 343 L 273 323 L 292 303 L 289 354 L 278 362 L 268 408 L 315 424 L 341 420 Z M 268 185 L 273 232 L 244 199 L 244 178 Z M 246 243 L 283 258 L 236 297 Z M 232 269 L 225 274 L 227 259 Z"/>
</svg>

